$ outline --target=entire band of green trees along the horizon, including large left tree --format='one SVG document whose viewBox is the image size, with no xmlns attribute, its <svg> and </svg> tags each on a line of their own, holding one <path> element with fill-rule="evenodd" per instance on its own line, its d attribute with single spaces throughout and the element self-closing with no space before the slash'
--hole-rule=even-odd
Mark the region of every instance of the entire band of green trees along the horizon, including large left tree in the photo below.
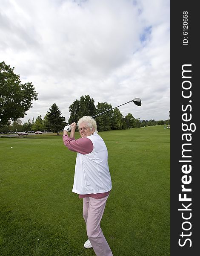
<svg viewBox="0 0 200 256">
<path fill-rule="evenodd" d="M 53 103 L 42 118 L 41 115 L 32 121 L 29 119 L 22 124 L 23 118 L 32 107 L 32 101 L 38 99 L 31 82 L 23 84 L 19 75 L 3 61 L 0 63 L 0 132 L 16 131 L 53 131 L 59 134 L 65 125 L 77 122 L 82 116 L 95 116 L 112 108 L 107 102 L 98 102 L 94 105 L 94 99 L 89 95 L 81 96 L 69 106 L 69 119 L 66 121 L 56 103 Z M 170 113 L 170 112 L 169 112 Z M 95 117 L 98 131 L 122 130 L 139 128 L 147 125 L 170 124 L 170 119 L 155 121 L 134 118 L 131 113 L 123 116 L 118 108 Z"/>
</svg>

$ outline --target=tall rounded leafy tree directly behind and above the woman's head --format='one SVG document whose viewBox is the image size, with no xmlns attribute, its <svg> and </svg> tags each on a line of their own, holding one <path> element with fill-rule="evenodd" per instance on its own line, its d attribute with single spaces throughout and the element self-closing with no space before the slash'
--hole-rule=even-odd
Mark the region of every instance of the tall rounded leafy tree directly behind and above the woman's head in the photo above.
<svg viewBox="0 0 200 256">
<path fill-rule="evenodd" d="M 72 122 L 77 123 L 83 116 L 94 116 L 96 113 L 94 99 L 91 99 L 89 95 L 81 96 L 80 100 L 75 100 L 69 106 L 69 113 L 69 124 Z"/>
</svg>

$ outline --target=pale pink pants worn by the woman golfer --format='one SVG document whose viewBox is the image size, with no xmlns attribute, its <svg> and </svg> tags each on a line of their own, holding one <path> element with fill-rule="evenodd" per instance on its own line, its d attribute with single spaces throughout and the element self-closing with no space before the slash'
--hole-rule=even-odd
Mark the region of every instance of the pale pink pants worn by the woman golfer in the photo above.
<svg viewBox="0 0 200 256">
<path fill-rule="evenodd" d="M 86 221 L 87 236 L 97 256 L 113 256 L 100 228 L 100 221 L 108 197 L 100 199 L 83 198 L 83 218 Z"/>
</svg>

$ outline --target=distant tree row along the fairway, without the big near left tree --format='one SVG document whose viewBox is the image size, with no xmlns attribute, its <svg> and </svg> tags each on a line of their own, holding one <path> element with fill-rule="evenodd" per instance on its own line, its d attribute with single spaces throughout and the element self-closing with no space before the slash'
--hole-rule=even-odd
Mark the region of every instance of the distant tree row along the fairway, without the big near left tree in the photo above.
<svg viewBox="0 0 200 256">
<path fill-rule="evenodd" d="M 49 108 L 49 111 L 47 111 L 43 118 L 41 115 L 39 115 L 35 120 L 34 118 L 32 120 L 28 119 L 28 121 L 24 124 L 22 124 L 20 119 L 17 119 L 12 123 L 9 122 L 7 125 L 1 127 L 0 132 L 51 131 L 59 134 L 65 125 L 69 125 L 72 122 L 77 122 L 82 116 L 94 116 L 111 108 L 112 105 L 108 104 L 107 102 L 99 102 L 95 107 L 94 100 L 91 99 L 89 95 L 81 96 L 80 100 L 75 100 L 69 106 L 70 117 L 68 122 L 66 122 L 65 116 L 62 116 L 60 108 L 56 103 L 54 103 L 51 105 L 51 108 Z M 139 118 L 134 118 L 131 113 L 123 116 L 118 108 L 95 117 L 95 120 L 97 122 L 98 131 L 122 130 L 151 125 L 170 124 L 169 119 L 164 121 L 155 121 L 154 119 L 141 121 Z"/>
</svg>

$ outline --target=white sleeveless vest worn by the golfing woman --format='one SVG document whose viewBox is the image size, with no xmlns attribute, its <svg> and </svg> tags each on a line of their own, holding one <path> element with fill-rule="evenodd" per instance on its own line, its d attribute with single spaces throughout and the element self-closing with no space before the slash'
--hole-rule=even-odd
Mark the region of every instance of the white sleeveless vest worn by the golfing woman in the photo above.
<svg viewBox="0 0 200 256">
<path fill-rule="evenodd" d="M 93 143 L 93 150 L 89 154 L 77 153 L 72 192 L 79 195 L 109 192 L 112 185 L 106 144 L 97 133 L 87 138 Z"/>
</svg>

